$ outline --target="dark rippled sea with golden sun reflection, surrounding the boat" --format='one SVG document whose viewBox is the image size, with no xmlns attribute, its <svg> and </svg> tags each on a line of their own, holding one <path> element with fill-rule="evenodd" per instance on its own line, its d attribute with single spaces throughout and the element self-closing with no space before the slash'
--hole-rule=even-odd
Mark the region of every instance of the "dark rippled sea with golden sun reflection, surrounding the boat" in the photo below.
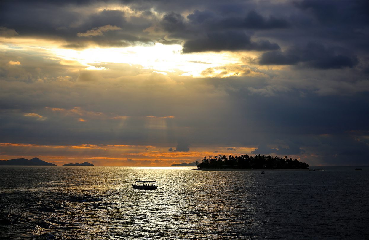
<svg viewBox="0 0 369 240">
<path fill-rule="evenodd" d="M 1 166 L 0 237 L 369 238 L 368 167 L 192 168 Z M 131 186 L 154 178 L 157 190 Z"/>
</svg>

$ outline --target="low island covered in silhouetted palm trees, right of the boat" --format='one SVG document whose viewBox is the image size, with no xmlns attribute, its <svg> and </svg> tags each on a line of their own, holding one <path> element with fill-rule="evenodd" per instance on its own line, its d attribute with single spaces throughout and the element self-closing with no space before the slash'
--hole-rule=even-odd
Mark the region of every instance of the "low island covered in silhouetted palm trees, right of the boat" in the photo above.
<svg viewBox="0 0 369 240">
<path fill-rule="evenodd" d="M 297 159 L 292 159 L 287 156 L 272 157 L 270 155 L 260 155 L 257 154 L 254 157 L 248 155 L 232 156 L 228 157 L 225 155 L 219 155 L 215 157 L 209 156 L 204 157 L 202 162 L 196 161 L 197 169 L 204 170 L 206 168 L 211 169 L 247 169 L 247 168 L 257 168 L 257 169 L 307 169 L 309 164 L 303 162 L 301 163 Z"/>
</svg>

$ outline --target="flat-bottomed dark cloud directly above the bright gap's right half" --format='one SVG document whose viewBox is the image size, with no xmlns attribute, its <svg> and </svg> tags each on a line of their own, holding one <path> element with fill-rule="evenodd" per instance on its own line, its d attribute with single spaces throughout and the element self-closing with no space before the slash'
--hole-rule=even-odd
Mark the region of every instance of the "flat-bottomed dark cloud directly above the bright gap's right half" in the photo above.
<svg viewBox="0 0 369 240">
<path fill-rule="evenodd" d="M 279 46 L 268 40 L 252 42 L 249 36 L 243 32 L 226 31 L 211 32 L 205 38 L 186 41 L 183 45 L 183 52 L 206 52 L 206 51 L 237 51 L 255 50 L 266 51 L 276 50 Z"/>
</svg>

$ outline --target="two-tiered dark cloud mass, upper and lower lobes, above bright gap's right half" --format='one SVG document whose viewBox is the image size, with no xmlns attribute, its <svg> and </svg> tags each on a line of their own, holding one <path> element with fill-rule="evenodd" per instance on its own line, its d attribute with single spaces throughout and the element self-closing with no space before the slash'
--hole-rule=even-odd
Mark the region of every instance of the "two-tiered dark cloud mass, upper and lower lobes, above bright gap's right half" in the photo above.
<svg viewBox="0 0 369 240">
<path fill-rule="evenodd" d="M 169 32 L 170 38 L 182 38 L 183 52 L 205 51 L 266 51 L 279 49 L 276 43 L 267 39 L 251 42 L 244 29 L 286 28 L 289 24 L 284 19 L 275 17 L 263 18 L 255 11 L 250 11 L 246 17 L 229 17 L 209 10 L 195 10 L 187 15 L 189 22 L 178 13 L 164 15 L 161 25 Z M 202 37 L 198 37 L 198 36 Z"/>
</svg>

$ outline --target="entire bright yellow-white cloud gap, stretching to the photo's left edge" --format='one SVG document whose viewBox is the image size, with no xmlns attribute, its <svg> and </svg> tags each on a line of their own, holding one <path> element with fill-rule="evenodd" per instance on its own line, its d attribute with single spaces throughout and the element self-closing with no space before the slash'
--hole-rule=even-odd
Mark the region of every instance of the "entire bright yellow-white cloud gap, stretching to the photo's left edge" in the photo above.
<svg viewBox="0 0 369 240">
<path fill-rule="evenodd" d="M 242 55 L 231 52 L 182 53 L 181 45 L 130 46 L 125 48 L 87 48 L 83 50 L 60 48 L 60 43 L 48 40 L 1 38 L 0 49 L 42 52 L 48 59 L 62 65 L 75 65 L 86 70 L 107 70 L 109 63 L 141 65 L 160 74 L 192 77 L 229 77 L 242 74 L 242 69 L 225 68 L 238 65 Z M 42 47 L 41 47 L 42 46 Z M 255 58 L 256 56 L 254 56 Z M 211 69 L 210 71 L 208 71 Z M 206 70 L 206 71 L 204 71 Z M 204 71 L 204 74 L 201 73 Z"/>
</svg>

